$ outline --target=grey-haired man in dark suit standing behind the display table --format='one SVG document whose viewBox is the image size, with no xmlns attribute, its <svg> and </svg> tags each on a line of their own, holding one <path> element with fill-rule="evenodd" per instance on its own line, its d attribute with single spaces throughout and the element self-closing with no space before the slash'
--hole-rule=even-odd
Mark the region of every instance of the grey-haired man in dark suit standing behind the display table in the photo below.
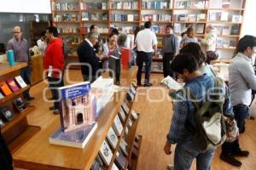
<svg viewBox="0 0 256 170">
<path fill-rule="evenodd" d="M 81 63 L 84 82 L 94 82 L 96 80 L 99 61 L 106 59 L 106 57 L 96 56 L 95 48 L 93 48 L 98 41 L 98 36 L 96 31 L 90 31 L 78 48 L 79 62 Z"/>
</svg>

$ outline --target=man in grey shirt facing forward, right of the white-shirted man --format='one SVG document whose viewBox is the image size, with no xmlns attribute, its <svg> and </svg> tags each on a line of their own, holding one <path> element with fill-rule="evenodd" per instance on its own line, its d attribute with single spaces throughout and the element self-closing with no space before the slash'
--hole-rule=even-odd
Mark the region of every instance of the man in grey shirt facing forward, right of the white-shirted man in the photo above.
<svg viewBox="0 0 256 170">
<path fill-rule="evenodd" d="M 173 77 L 173 72 L 170 68 L 170 65 L 173 57 L 177 54 L 177 51 L 178 51 L 178 40 L 172 31 L 173 31 L 172 26 L 166 26 L 166 37 L 163 40 L 164 77 L 167 77 L 167 76 Z"/>
</svg>

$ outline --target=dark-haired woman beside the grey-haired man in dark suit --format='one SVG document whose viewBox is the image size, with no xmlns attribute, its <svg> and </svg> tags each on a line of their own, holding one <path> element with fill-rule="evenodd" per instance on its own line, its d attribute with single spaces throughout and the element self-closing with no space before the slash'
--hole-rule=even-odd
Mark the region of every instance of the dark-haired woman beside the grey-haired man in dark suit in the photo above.
<svg viewBox="0 0 256 170">
<path fill-rule="evenodd" d="M 110 55 L 115 55 L 117 50 L 118 50 L 118 45 L 117 45 L 117 38 L 118 36 L 114 33 L 109 34 L 108 36 L 108 42 L 105 42 L 102 44 L 102 54 L 104 56 L 110 56 Z M 108 69 L 108 59 L 104 60 L 102 63 L 102 68 L 103 69 Z"/>
</svg>

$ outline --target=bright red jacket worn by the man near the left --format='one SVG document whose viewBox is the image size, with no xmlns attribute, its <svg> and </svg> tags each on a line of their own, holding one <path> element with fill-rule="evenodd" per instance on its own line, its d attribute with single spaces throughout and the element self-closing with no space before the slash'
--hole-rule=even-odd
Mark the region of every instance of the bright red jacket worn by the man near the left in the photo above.
<svg viewBox="0 0 256 170">
<path fill-rule="evenodd" d="M 49 42 L 44 54 L 44 69 L 48 72 L 49 66 L 52 65 L 52 77 L 61 78 L 60 71 L 62 72 L 65 67 L 64 54 L 62 49 L 63 43 L 61 38 L 56 38 L 54 41 Z M 59 70 L 59 71 L 55 71 Z"/>
</svg>

